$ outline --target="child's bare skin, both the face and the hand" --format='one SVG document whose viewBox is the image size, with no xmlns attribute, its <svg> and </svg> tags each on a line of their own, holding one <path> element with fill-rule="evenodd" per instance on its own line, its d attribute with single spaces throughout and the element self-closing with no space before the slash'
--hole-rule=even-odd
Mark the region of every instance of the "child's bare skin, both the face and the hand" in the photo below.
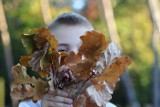
<svg viewBox="0 0 160 107">
<path fill-rule="evenodd" d="M 77 52 L 81 45 L 80 36 L 89 30 L 92 29 L 81 25 L 59 25 L 51 30 L 51 34 L 59 43 L 58 51 Z M 42 99 L 42 107 L 73 107 L 73 100 L 68 95 L 62 90 L 57 90 L 55 95 L 48 93 Z"/>
</svg>

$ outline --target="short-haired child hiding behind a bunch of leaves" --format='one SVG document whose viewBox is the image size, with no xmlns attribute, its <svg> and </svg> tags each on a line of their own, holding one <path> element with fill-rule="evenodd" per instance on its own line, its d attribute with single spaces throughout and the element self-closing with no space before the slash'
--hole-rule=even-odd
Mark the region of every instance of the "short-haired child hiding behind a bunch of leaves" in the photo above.
<svg viewBox="0 0 160 107">
<path fill-rule="evenodd" d="M 86 31 L 93 30 L 92 25 L 84 17 L 75 13 L 64 13 L 57 17 L 49 26 L 51 34 L 57 39 L 58 51 L 77 52 L 81 40 L 80 36 Z M 37 104 L 21 102 L 19 107 L 73 107 L 73 100 L 69 98 L 68 93 L 57 90 L 55 95 L 46 94 Z M 27 106 L 25 106 L 27 105 Z M 106 107 L 115 107 L 107 103 Z"/>
</svg>

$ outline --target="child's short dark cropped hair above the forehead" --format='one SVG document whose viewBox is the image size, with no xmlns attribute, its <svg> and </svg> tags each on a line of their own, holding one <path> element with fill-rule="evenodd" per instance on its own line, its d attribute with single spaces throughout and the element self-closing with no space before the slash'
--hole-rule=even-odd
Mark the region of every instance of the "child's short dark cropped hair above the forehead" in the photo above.
<svg viewBox="0 0 160 107">
<path fill-rule="evenodd" d="M 90 22 L 83 16 L 73 13 L 67 12 L 58 16 L 53 22 L 48 26 L 48 29 L 53 29 L 58 25 L 83 25 L 90 29 L 93 29 L 93 26 Z"/>
</svg>

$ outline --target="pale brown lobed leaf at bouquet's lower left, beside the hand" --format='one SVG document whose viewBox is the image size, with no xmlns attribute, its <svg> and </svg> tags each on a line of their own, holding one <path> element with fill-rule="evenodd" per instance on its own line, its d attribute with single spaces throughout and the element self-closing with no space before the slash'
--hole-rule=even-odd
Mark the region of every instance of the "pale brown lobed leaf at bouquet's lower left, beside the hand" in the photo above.
<svg viewBox="0 0 160 107">
<path fill-rule="evenodd" d="M 14 83 L 12 85 L 11 97 L 15 100 L 36 99 L 39 100 L 48 91 L 48 83 L 41 79 L 30 77 L 26 68 L 20 64 L 12 67 Z"/>
</svg>

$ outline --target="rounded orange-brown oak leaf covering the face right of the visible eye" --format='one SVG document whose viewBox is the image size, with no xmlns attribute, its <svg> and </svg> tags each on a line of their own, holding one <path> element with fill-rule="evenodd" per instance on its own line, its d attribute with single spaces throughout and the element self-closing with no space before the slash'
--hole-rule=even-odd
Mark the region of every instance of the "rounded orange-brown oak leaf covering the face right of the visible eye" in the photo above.
<svg viewBox="0 0 160 107">
<path fill-rule="evenodd" d="M 99 60 L 109 43 L 102 33 L 95 30 L 87 31 L 80 39 L 82 40 L 82 45 L 79 52 L 84 54 L 86 58 L 96 59 L 96 61 Z"/>
</svg>

